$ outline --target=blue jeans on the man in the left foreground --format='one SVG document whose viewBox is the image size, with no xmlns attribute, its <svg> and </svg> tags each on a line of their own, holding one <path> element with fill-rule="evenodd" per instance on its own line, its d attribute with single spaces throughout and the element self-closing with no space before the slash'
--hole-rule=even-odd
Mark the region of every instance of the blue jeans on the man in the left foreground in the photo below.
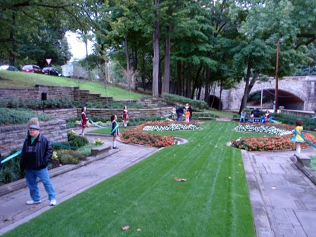
<svg viewBox="0 0 316 237">
<path fill-rule="evenodd" d="M 48 199 L 55 200 L 55 189 L 51 183 L 51 179 L 48 175 L 47 168 L 41 170 L 25 170 L 25 177 L 27 180 L 27 187 L 29 187 L 29 195 L 33 201 L 40 201 L 41 195 L 39 194 L 39 185 L 38 178 L 41 179 L 41 182 L 44 184 L 44 188 L 48 194 Z"/>
</svg>

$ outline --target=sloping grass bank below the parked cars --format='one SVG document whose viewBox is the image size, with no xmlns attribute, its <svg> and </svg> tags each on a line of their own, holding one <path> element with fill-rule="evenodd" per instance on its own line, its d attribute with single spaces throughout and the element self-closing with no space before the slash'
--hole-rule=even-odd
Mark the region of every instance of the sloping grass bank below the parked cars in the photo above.
<svg viewBox="0 0 316 237">
<path fill-rule="evenodd" d="M 79 86 L 81 90 L 89 90 L 90 93 L 98 93 L 103 96 L 113 97 L 114 100 L 138 100 L 144 95 L 126 91 L 117 86 L 107 84 L 105 86 L 99 81 L 84 81 L 68 79 L 60 76 L 47 76 L 43 74 L 34 74 L 27 72 L 0 72 L 0 87 L 13 88 L 32 88 L 35 85 L 51 85 L 51 86 Z"/>
</svg>

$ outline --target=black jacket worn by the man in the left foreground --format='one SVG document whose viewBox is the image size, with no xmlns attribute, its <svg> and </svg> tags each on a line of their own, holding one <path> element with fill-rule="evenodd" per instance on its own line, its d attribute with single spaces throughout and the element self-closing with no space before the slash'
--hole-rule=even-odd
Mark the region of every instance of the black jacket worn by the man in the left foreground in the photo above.
<svg viewBox="0 0 316 237">
<path fill-rule="evenodd" d="M 27 136 L 22 148 L 20 168 L 25 170 L 26 168 L 42 169 L 46 168 L 49 161 L 51 161 L 51 156 L 53 156 L 53 148 L 51 147 L 51 142 L 39 133 L 39 136 L 34 140 L 35 143 L 35 163 L 29 163 L 29 158 L 27 157 L 27 146 L 31 144 L 31 136 Z"/>
</svg>

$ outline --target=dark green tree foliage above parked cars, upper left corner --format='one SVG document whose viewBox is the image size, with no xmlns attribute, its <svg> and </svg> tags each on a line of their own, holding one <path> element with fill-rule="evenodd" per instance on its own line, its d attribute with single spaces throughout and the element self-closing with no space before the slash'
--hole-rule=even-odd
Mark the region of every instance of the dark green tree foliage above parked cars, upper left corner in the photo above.
<svg viewBox="0 0 316 237">
<path fill-rule="evenodd" d="M 70 59 L 70 53 L 63 51 L 67 49 L 63 40 L 65 32 L 69 29 L 86 29 L 87 26 L 97 27 L 86 9 L 91 2 L 93 1 L 2 1 L 1 58 L 8 58 L 6 61 L 11 65 L 15 65 L 15 58 L 18 57 L 43 66 L 45 57 L 56 56 L 53 58 L 55 62 L 62 60 L 65 63 Z"/>
</svg>

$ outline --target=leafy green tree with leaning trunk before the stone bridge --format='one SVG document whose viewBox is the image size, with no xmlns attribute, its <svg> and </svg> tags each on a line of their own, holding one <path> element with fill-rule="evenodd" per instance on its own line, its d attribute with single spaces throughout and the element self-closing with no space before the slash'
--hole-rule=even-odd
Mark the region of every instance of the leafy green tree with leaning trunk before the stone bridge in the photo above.
<svg viewBox="0 0 316 237">
<path fill-rule="evenodd" d="M 294 6 L 297 1 L 236 1 L 233 13 L 244 11 L 246 19 L 239 26 L 240 38 L 243 41 L 244 51 L 247 53 L 235 56 L 236 65 L 247 68 L 245 76 L 245 90 L 239 111 L 246 107 L 246 98 L 260 74 L 275 75 L 275 55 L 277 41 L 284 39 L 284 46 L 280 53 L 280 76 L 291 74 L 294 65 L 308 60 L 302 40 L 298 40 L 301 31 L 308 25 L 315 25 L 315 18 L 301 19 L 301 6 Z M 303 1 L 302 6 L 306 7 Z M 312 1 L 315 6 L 315 1 Z M 237 10 L 237 11 L 235 11 Z M 308 23 L 308 25 L 306 25 Z M 308 43 L 308 41 L 305 41 Z M 298 47 L 298 45 L 300 45 Z M 264 52 L 264 53 L 263 53 Z M 250 80 L 251 79 L 251 80 Z"/>
</svg>

